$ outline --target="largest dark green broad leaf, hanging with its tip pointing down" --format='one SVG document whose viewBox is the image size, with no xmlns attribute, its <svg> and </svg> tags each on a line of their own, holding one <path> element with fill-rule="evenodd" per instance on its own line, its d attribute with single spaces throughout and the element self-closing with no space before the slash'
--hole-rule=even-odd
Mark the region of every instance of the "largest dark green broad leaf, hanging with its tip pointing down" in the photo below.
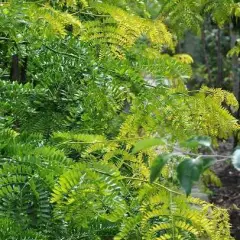
<svg viewBox="0 0 240 240">
<path fill-rule="evenodd" d="M 191 193 L 194 181 L 209 168 L 215 160 L 213 158 L 186 159 L 178 165 L 177 177 L 187 196 Z"/>
</svg>

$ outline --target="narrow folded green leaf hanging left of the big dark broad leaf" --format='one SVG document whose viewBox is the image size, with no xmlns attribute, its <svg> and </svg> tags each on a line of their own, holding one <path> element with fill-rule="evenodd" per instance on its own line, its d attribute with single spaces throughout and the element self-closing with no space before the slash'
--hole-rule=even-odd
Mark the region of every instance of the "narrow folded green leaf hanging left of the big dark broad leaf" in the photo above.
<svg viewBox="0 0 240 240">
<path fill-rule="evenodd" d="M 162 168 L 170 159 L 170 154 L 161 154 L 153 161 L 150 169 L 150 182 L 153 183 L 156 178 L 160 175 Z"/>
</svg>

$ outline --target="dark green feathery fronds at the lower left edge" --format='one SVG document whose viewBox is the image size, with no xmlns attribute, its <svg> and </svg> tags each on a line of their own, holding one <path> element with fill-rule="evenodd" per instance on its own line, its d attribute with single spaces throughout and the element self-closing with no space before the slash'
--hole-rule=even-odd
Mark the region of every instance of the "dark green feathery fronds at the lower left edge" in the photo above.
<svg viewBox="0 0 240 240">
<path fill-rule="evenodd" d="M 48 224 L 51 188 L 67 159 L 58 150 L 24 144 L 14 131 L 0 136 L 0 215 L 26 226 Z"/>
</svg>

